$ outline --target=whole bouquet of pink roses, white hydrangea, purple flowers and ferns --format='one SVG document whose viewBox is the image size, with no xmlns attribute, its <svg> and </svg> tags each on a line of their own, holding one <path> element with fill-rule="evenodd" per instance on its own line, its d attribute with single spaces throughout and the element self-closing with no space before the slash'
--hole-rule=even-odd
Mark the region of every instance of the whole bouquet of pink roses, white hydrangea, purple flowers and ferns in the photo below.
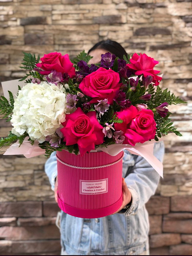
<svg viewBox="0 0 192 256">
<path fill-rule="evenodd" d="M 158 141 L 169 132 L 181 136 L 166 107 L 185 102 L 160 89 L 158 61 L 146 54 L 120 60 L 105 53 L 91 65 L 84 51 L 73 60 L 57 52 L 41 59 L 24 54 L 26 85 L 16 99 L 9 92 L 10 103 L 0 98 L 0 113 L 13 126 L 0 147 L 29 137 L 48 156 L 62 149 L 83 155 L 110 144 Z"/>
</svg>

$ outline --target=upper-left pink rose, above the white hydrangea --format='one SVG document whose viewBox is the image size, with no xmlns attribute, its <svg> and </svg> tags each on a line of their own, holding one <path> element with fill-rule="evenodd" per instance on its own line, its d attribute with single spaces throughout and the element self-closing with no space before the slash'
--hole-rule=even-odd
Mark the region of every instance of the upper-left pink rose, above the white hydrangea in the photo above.
<svg viewBox="0 0 192 256">
<path fill-rule="evenodd" d="M 44 54 L 41 61 L 41 63 L 36 64 L 38 68 L 44 70 L 39 71 L 41 75 L 49 75 L 52 70 L 55 70 L 62 74 L 67 73 L 70 78 L 75 77 L 75 68 L 73 67 L 73 63 L 69 60 L 68 54 L 65 54 L 64 56 L 62 56 L 60 52 Z"/>
</svg>

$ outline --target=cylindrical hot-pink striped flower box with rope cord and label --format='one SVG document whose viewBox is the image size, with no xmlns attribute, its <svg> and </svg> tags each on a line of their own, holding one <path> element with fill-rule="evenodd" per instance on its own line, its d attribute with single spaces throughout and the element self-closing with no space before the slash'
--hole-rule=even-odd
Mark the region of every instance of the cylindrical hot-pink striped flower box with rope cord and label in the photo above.
<svg viewBox="0 0 192 256">
<path fill-rule="evenodd" d="M 79 218 L 101 218 L 120 208 L 123 151 L 116 156 L 90 152 L 81 157 L 62 150 L 56 156 L 61 210 Z"/>
</svg>

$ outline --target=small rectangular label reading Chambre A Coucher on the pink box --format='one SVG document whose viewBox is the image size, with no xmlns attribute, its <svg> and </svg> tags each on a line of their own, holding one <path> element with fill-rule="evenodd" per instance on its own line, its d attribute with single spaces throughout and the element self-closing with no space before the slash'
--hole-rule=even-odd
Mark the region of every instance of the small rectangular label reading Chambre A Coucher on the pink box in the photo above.
<svg viewBox="0 0 192 256">
<path fill-rule="evenodd" d="M 80 194 L 102 194 L 108 192 L 108 178 L 104 180 L 80 180 Z"/>
</svg>

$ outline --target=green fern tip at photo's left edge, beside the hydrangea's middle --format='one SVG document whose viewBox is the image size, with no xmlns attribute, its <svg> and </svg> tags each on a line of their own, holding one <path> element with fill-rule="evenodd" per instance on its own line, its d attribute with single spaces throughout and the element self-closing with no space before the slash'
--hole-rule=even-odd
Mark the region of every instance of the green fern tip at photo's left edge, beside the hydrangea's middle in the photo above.
<svg viewBox="0 0 192 256">
<path fill-rule="evenodd" d="M 8 117 L 7 122 L 11 120 L 11 114 L 14 109 L 13 94 L 11 93 L 11 91 L 8 91 L 8 93 L 9 93 L 9 97 L 10 97 L 10 103 L 4 96 L 0 97 L 0 114 L 4 115 L 4 117 L 2 117 L 2 118 Z"/>
</svg>

